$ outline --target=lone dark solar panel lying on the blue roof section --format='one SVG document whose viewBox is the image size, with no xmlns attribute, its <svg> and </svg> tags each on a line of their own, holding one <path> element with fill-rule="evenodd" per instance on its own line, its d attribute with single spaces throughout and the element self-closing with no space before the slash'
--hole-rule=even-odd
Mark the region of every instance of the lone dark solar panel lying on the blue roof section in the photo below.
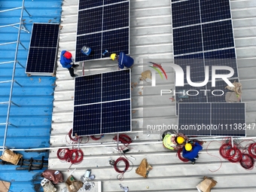
<svg viewBox="0 0 256 192">
<path fill-rule="evenodd" d="M 26 73 L 52 75 L 56 69 L 59 24 L 33 23 Z"/>
</svg>

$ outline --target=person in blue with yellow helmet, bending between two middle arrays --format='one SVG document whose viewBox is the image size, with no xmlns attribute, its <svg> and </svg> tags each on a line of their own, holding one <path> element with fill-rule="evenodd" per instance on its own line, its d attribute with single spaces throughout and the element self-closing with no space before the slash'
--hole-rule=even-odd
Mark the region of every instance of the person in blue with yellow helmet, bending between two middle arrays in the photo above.
<svg viewBox="0 0 256 192">
<path fill-rule="evenodd" d="M 126 54 L 123 52 L 120 52 L 119 56 L 117 56 L 116 53 L 112 53 L 110 57 L 112 60 L 117 60 L 119 69 L 123 69 L 124 67 L 126 67 L 127 69 L 133 68 L 133 58 L 130 56 L 126 56 Z"/>
</svg>

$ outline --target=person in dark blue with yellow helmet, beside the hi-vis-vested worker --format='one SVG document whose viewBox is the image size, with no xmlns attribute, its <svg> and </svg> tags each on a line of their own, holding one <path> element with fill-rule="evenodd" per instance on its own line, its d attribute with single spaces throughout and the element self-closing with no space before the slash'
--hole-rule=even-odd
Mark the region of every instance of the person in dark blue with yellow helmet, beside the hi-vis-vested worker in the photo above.
<svg viewBox="0 0 256 192">
<path fill-rule="evenodd" d="M 198 158 L 198 153 L 203 149 L 203 147 L 198 142 L 192 142 L 192 144 L 187 142 L 187 144 L 183 147 L 182 156 L 187 160 L 190 160 L 194 165 Z"/>
</svg>

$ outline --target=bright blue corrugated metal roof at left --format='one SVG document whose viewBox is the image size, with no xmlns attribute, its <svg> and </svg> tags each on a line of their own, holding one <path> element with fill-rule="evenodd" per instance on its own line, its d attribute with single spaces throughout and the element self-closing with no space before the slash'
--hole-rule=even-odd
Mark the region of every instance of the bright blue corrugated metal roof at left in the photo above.
<svg viewBox="0 0 256 192">
<path fill-rule="evenodd" d="M 0 26 L 20 23 L 20 14 L 23 1 L 1 1 Z M 25 7 L 32 17 L 23 13 L 23 21 L 26 28 L 31 32 L 32 23 L 59 23 L 61 15 L 60 0 L 53 1 L 26 1 Z M 20 8 L 13 11 L 8 9 Z M 17 25 L 18 26 L 18 25 Z M 0 44 L 17 41 L 18 30 L 12 26 L 0 28 Z M 31 33 L 20 32 L 20 42 L 28 49 Z M 0 46 L 0 62 L 14 61 L 16 43 Z M 17 59 L 26 66 L 28 50 L 20 45 Z M 0 81 L 11 81 L 14 69 L 14 62 L 0 65 Z M 53 93 L 55 88 L 55 77 L 27 77 L 25 69 L 17 64 L 14 75 L 16 80 L 23 87 L 14 83 L 9 122 L 15 126 L 8 126 L 6 146 L 8 148 L 46 148 L 50 146 L 50 130 L 53 111 Z M 0 102 L 8 102 L 11 93 L 11 83 L 0 84 Z M 8 112 L 8 105 L 0 105 L 0 123 L 5 123 Z M 0 126 L 0 143 L 3 143 L 5 126 Z M 2 144 L 1 144 L 2 145 Z M 44 156 L 49 157 L 48 151 L 25 152 L 25 159 L 30 157 L 41 160 Z M 16 170 L 16 166 L 0 166 L 0 180 L 11 181 L 11 191 L 43 191 L 41 188 L 42 170 L 30 171 Z M 45 168 L 44 168 L 45 169 Z"/>
</svg>

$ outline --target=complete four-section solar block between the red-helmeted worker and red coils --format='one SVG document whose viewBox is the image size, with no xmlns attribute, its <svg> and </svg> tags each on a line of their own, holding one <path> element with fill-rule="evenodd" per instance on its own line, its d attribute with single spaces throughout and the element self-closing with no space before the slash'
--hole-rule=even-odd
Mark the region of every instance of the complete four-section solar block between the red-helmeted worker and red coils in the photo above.
<svg viewBox="0 0 256 192">
<path fill-rule="evenodd" d="M 113 78 L 115 76 L 117 76 L 117 73 L 119 73 L 119 78 Z M 110 74 L 110 75 L 108 75 Z M 93 78 L 93 76 L 96 75 L 96 78 Z M 130 69 L 125 69 L 125 70 L 118 70 L 118 71 L 113 71 L 113 72 L 103 72 L 103 73 L 98 73 L 98 74 L 93 74 L 93 75 L 87 75 L 89 76 L 90 79 L 93 79 L 93 82 L 99 82 L 99 75 L 101 76 L 101 84 L 100 84 L 100 89 L 101 89 L 101 96 L 100 96 L 100 102 L 98 102 L 99 100 L 96 100 L 96 102 L 90 102 L 89 103 L 84 103 L 84 100 L 81 99 L 81 96 L 79 97 L 79 95 L 81 94 L 77 94 L 75 93 L 75 98 L 74 98 L 74 116 L 73 116 L 73 136 L 75 133 L 82 133 L 86 135 L 79 135 L 79 136 L 93 136 L 93 135 L 97 135 L 97 134 L 107 134 L 107 133 L 117 133 L 117 132 L 127 132 L 127 131 L 131 131 L 132 130 L 132 105 L 131 105 L 131 88 L 130 88 L 130 84 L 131 84 L 131 73 L 130 73 Z M 88 78 L 84 78 L 87 76 L 82 76 L 82 77 L 76 77 L 75 78 L 75 90 L 79 89 L 79 86 L 76 86 L 78 84 L 76 84 L 76 81 L 87 81 Z M 123 79 L 120 77 L 124 77 Z M 123 82 L 126 81 L 126 83 L 124 84 L 124 87 L 126 87 L 126 96 L 121 96 L 121 98 L 117 98 L 114 97 L 113 99 L 115 100 L 102 100 L 103 95 L 105 94 L 102 90 L 103 90 L 103 86 L 105 86 L 105 84 L 103 84 L 103 78 L 105 80 L 105 78 L 109 79 L 111 78 L 112 81 L 116 81 L 118 79 L 118 81 Z M 127 79 L 129 78 L 129 79 Z M 96 81 L 94 81 L 96 79 Z M 129 81 L 129 86 L 127 85 Z M 108 81 L 108 83 L 110 83 L 111 81 Z M 87 82 L 86 85 L 89 85 L 90 82 Z M 118 89 L 116 89 L 117 91 L 120 90 L 120 84 L 118 84 Z M 115 84 L 114 84 L 115 86 Z M 82 84 L 82 87 L 84 87 L 84 84 Z M 109 87 L 109 86 L 108 86 Z M 111 86 L 110 86 L 111 87 Z M 89 92 L 92 93 L 93 87 L 90 87 Z M 96 86 L 96 89 L 99 90 L 99 86 Z M 76 92 L 76 91 L 75 91 Z M 80 90 L 80 93 L 84 93 L 86 94 L 86 91 Z M 96 91 L 96 95 L 99 96 L 98 91 Z M 128 96 L 129 94 L 129 96 Z M 125 94 L 123 94 L 125 95 Z M 128 97 L 127 97 L 128 96 Z M 90 98 L 90 96 L 88 96 L 88 98 Z M 98 98 L 96 98 L 98 99 Z M 85 99 L 87 100 L 87 98 Z M 123 104 L 123 108 L 121 108 L 120 106 L 122 106 Z M 96 108 L 94 108 L 94 105 L 96 105 Z M 96 114 L 98 114 L 99 112 L 99 106 L 100 106 L 100 126 L 99 123 L 90 123 L 90 118 L 93 117 L 93 111 L 88 113 L 88 108 L 86 107 L 81 107 L 81 106 L 88 106 L 88 108 L 93 108 L 94 111 L 96 111 Z M 113 111 L 109 110 L 110 106 L 112 106 Z M 75 111 L 77 109 L 77 107 L 81 107 L 82 110 L 80 110 L 80 112 Z M 130 107 L 130 108 L 129 108 Z M 84 109 L 83 109 L 84 108 Z M 106 110 L 106 108 L 108 110 Z M 78 108 L 80 109 L 80 108 Z M 114 123 L 117 123 L 115 126 L 113 124 L 111 124 L 110 126 L 107 126 L 109 123 L 109 120 L 111 120 L 111 118 L 113 119 L 113 117 L 109 117 L 109 115 L 111 114 L 111 116 L 116 115 L 115 116 L 115 121 Z M 84 116 L 83 116 L 84 115 Z M 80 119 L 80 117 L 82 117 L 82 119 Z M 83 117 L 88 117 L 88 120 L 84 120 Z M 122 122 L 120 122 L 120 120 L 117 120 L 117 117 L 121 117 L 121 119 L 123 119 L 123 123 L 127 123 L 128 120 L 130 119 L 130 125 L 124 125 Z M 98 116 L 99 118 L 99 116 Z M 104 120 L 102 119 L 104 118 Z M 78 122 L 76 122 L 78 121 Z M 85 127 L 84 124 L 81 124 L 81 122 L 89 122 L 90 126 L 88 126 L 88 128 L 86 128 L 87 130 L 83 130 Z M 95 121 L 93 121 L 95 122 Z M 99 122 L 99 121 L 96 121 Z M 87 126 L 86 126 L 87 127 Z M 107 130 L 114 130 L 114 128 L 117 130 L 118 127 L 120 127 L 120 129 L 118 129 L 116 132 L 108 132 Z M 81 130 L 80 130 L 81 129 Z M 94 129 L 94 130 L 93 130 Z M 98 131 L 96 131 L 96 129 Z"/>
</svg>

